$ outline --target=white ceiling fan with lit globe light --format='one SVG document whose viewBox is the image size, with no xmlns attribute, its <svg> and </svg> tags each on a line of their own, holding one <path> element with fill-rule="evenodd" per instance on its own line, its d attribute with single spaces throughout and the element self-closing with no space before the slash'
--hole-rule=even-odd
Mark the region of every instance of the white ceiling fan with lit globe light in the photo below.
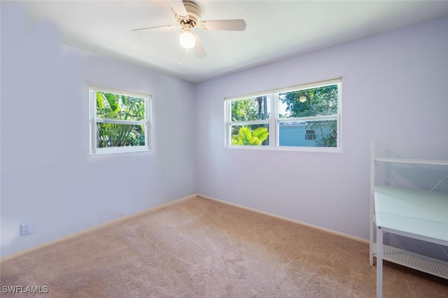
<svg viewBox="0 0 448 298">
<path fill-rule="evenodd" d="M 179 24 L 167 24 L 158 27 L 148 27 L 134 29 L 135 34 L 146 34 L 149 32 L 172 31 L 182 28 L 179 35 L 179 43 L 187 50 L 193 49 L 196 57 L 206 57 L 207 53 L 202 46 L 199 36 L 193 32 L 193 29 L 200 27 L 206 31 L 244 31 L 246 22 L 244 20 L 201 20 L 201 9 L 193 1 L 169 0 L 174 10 L 176 20 Z"/>
</svg>

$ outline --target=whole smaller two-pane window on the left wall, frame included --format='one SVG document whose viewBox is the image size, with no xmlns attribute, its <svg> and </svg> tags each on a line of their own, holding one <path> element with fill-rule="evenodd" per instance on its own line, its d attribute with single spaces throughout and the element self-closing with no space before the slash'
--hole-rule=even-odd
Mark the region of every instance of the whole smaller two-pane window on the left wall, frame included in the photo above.
<svg viewBox="0 0 448 298">
<path fill-rule="evenodd" d="M 90 154 L 151 149 L 151 95 L 89 86 Z"/>
</svg>

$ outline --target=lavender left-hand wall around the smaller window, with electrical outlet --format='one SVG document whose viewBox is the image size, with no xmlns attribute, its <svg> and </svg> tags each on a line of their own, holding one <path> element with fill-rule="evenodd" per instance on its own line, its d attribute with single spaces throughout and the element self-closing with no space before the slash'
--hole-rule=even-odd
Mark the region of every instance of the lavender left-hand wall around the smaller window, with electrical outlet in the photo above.
<svg viewBox="0 0 448 298">
<path fill-rule="evenodd" d="M 2 6 L 2 256 L 195 193 L 193 85 L 59 40 Z M 89 155 L 88 83 L 153 95 L 153 152 Z"/>
</svg>

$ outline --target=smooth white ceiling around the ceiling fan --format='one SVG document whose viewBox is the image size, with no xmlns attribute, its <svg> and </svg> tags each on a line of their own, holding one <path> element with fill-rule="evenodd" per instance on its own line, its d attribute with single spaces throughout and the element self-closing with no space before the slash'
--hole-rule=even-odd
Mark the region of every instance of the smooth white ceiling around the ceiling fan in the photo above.
<svg viewBox="0 0 448 298">
<path fill-rule="evenodd" d="M 167 0 L 17 3 L 31 24 L 56 22 L 66 44 L 193 83 L 448 15 L 448 1 L 193 1 L 202 20 L 244 19 L 246 31 L 195 28 L 207 52 L 197 58 L 179 49 L 180 29 L 131 32 L 177 24 Z"/>
</svg>

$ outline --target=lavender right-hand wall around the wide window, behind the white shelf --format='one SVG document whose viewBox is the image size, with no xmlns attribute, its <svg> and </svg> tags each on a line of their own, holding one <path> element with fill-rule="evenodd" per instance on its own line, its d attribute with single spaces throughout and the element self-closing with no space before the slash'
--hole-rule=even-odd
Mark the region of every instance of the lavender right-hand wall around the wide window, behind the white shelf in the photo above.
<svg viewBox="0 0 448 298">
<path fill-rule="evenodd" d="M 197 192 L 368 239 L 371 141 L 383 156 L 448 159 L 447 28 L 444 17 L 197 84 Z M 337 76 L 342 153 L 224 147 L 224 97 Z"/>
</svg>

